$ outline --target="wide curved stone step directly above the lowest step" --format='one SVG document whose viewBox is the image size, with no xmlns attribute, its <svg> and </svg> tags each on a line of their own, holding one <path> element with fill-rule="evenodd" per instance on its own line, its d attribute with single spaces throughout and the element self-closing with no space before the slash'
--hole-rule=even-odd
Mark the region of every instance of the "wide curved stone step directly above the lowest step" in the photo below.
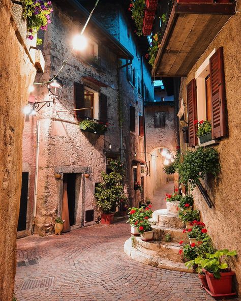
<svg viewBox="0 0 241 301">
<path fill-rule="evenodd" d="M 133 236 L 132 245 L 144 254 L 175 262 L 183 262 L 182 256 L 179 254 L 179 244 L 160 241 L 143 242 L 140 236 Z"/>
</svg>

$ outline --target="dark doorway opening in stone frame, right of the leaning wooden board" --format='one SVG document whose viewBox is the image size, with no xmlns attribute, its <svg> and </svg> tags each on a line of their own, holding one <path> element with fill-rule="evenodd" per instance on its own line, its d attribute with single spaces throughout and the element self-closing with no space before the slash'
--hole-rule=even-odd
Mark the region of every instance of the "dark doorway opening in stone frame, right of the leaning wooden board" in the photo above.
<svg viewBox="0 0 241 301">
<path fill-rule="evenodd" d="M 67 183 L 68 208 L 70 226 L 75 224 L 75 182 L 76 173 L 65 173 L 64 182 Z"/>
</svg>

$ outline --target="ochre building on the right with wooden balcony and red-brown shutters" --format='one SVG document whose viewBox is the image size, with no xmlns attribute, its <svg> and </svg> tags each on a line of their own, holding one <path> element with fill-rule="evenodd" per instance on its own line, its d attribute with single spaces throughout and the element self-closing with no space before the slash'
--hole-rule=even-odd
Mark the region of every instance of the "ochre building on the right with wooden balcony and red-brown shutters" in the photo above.
<svg viewBox="0 0 241 301">
<path fill-rule="evenodd" d="M 182 152 L 199 146 L 218 150 L 221 172 L 216 180 L 206 178 L 202 182 L 213 205 L 210 208 L 201 191 L 195 188 L 194 206 L 200 210 L 215 246 L 237 250 L 232 268 L 240 293 L 241 16 L 237 12 L 241 10 L 241 2 L 187 4 L 180 0 L 171 9 L 166 12 L 167 26 L 164 31 L 161 28 L 164 38 L 153 75 L 182 77 L 178 112 Z M 164 13 L 161 7 L 159 13 Z M 180 38 L 175 39 L 178 35 Z M 195 119 L 212 121 L 212 140 L 200 143 Z M 188 139 L 184 136 L 187 123 Z"/>
</svg>

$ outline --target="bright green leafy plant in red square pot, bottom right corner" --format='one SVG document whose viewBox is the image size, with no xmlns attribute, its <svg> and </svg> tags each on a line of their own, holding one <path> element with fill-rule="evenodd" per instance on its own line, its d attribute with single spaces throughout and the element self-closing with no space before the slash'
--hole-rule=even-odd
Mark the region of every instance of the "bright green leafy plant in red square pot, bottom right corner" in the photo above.
<svg viewBox="0 0 241 301">
<path fill-rule="evenodd" d="M 202 271 L 206 275 L 209 292 L 212 296 L 225 296 L 232 293 L 232 278 L 235 275 L 231 272 L 226 262 L 227 257 L 235 256 L 237 252 L 227 249 L 218 250 L 215 254 L 196 258 L 196 262 L 201 265 Z"/>
</svg>

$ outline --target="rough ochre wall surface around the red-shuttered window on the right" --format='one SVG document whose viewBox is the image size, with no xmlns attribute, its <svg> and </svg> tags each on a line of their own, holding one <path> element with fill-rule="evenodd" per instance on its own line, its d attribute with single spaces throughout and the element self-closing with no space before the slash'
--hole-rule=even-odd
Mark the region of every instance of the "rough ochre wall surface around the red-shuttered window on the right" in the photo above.
<svg viewBox="0 0 241 301">
<path fill-rule="evenodd" d="M 237 2 L 237 11 L 241 10 L 241 2 Z M 227 121 L 228 137 L 222 138 L 218 145 L 215 145 L 220 154 L 221 173 L 216 180 L 209 179 L 204 182 L 208 195 L 214 202 L 214 207 L 209 208 L 198 189 L 193 192 L 195 198 L 195 208 L 201 212 L 201 218 L 206 224 L 209 235 L 214 244 L 219 249 L 237 250 L 237 259 L 233 260 L 233 268 L 236 273 L 236 283 L 239 285 L 241 293 L 241 245 L 240 245 L 240 216 L 241 207 L 239 196 L 241 194 L 240 175 L 240 144 L 241 144 L 241 120 L 240 120 L 240 28 L 241 16 L 232 16 L 215 40 L 208 46 L 206 51 L 199 58 L 195 66 L 186 79 L 182 80 L 180 97 L 186 102 L 185 85 L 195 78 L 195 71 L 200 67 L 205 58 L 213 51 L 223 47 L 224 50 L 224 73 L 227 99 Z M 186 112 L 187 113 L 187 112 Z M 187 120 L 187 116 L 186 116 Z M 182 138 L 182 128 L 180 137 Z M 185 149 L 183 139 L 181 139 L 182 149 Z"/>
</svg>

